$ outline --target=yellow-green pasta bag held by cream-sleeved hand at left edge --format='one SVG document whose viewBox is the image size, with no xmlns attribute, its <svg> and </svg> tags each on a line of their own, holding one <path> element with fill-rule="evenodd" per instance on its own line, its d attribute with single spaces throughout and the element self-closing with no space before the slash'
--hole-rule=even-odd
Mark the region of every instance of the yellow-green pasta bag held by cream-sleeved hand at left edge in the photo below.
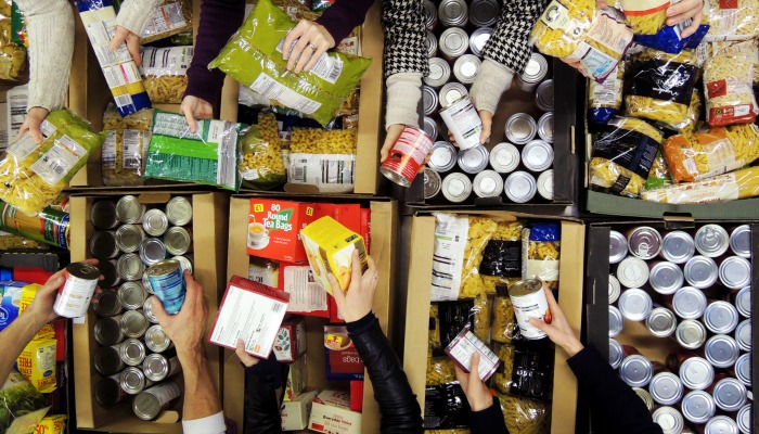
<svg viewBox="0 0 759 434">
<path fill-rule="evenodd" d="M 26 133 L 0 162 L 0 200 L 26 214 L 50 205 L 105 140 L 66 108 L 51 112 L 40 125 L 43 140 Z"/>
</svg>

